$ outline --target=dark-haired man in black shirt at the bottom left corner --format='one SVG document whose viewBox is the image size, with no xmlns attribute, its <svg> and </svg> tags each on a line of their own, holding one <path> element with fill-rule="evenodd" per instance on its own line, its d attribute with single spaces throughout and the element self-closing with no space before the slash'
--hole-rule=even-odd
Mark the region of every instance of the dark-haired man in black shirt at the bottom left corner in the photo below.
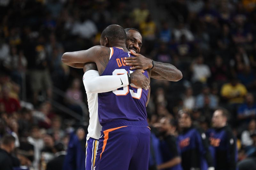
<svg viewBox="0 0 256 170">
<path fill-rule="evenodd" d="M 1 139 L 0 147 L 0 169 L 13 170 L 13 167 L 19 166 L 19 160 L 11 155 L 15 148 L 15 137 L 12 135 L 4 135 Z"/>
</svg>

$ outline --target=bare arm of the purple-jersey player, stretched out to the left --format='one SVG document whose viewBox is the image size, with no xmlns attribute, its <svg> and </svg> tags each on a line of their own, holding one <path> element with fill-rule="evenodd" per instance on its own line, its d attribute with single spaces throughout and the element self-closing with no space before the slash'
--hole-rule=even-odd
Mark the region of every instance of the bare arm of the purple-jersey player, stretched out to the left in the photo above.
<svg viewBox="0 0 256 170">
<path fill-rule="evenodd" d="M 106 56 L 109 56 L 109 54 L 110 48 L 107 48 L 105 46 L 94 46 L 87 50 L 66 52 L 62 55 L 61 61 L 71 67 L 83 68 L 84 64 L 82 63 L 94 62 L 97 64 L 102 62 L 101 60 L 103 58 L 107 59 Z"/>
</svg>

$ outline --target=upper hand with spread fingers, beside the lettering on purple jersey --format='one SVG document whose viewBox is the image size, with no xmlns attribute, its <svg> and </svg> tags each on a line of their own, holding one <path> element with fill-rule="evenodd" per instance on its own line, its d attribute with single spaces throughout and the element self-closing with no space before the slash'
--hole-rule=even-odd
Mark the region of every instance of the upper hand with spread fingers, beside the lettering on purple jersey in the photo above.
<svg viewBox="0 0 256 170">
<path fill-rule="evenodd" d="M 124 63 L 126 65 L 131 66 L 130 68 L 131 70 L 135 70 L 135 69 L 147 70 L 153 67 L 151 59 L 143 55 L 134 53 L 132 50 L 131 50 L 131 54 L 135 57 L 124 57 Z"/>
</svg>

